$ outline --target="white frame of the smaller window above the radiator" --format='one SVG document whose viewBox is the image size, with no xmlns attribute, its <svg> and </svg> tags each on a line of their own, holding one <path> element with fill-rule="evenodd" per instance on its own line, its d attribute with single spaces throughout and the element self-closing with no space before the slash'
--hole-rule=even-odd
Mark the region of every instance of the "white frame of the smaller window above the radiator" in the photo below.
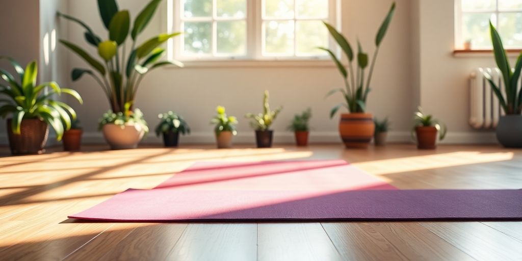
<svg viewBox="0 0 522 261">
<path fill-rule="evenodd" d="M 499 8 L 499 1 L 496 1 L 495 10 L 473 10 L 473 11 L 464 11 L 462 10 L 462 0 L 455 0 L 455 49 L 463 50 L 464 49 L 464 41 L 462 38 L 462 15 L 463 14 L 490 14 L 493 13 L 495 15 L 495 20 L 493 21 L 493 25 L 497 27 L 499 25 L 499 17 L 500 14 L 510 14 L 510 13 L 522 13 L 522 9 L 516 10 L 501 10 Z M 497 28 L 501 30 L 500 28 Z M 471 50 L 492 50 L 489 49 L 476 49 L 471 46 Z M 507 50 L 519 50 L 522 49 L 522 46 L 506 48 Z"/>
</svg>

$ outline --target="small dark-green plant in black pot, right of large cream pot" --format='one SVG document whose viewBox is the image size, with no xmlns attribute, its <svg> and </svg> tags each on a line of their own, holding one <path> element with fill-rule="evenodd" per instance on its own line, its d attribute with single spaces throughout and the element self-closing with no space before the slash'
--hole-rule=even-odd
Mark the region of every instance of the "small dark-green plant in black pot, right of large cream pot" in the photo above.
<svg viewBox="0 0 522 261">
<path fill-rule="evenodd" d="M 180 133 L 190 134 L 191 128 L 183 117 L 177 113 L 169 111 L 158 115 L 160 123 L 156 127 L 156 135 L 159 137 L 163 134 L 163 144 L 165 147 L 177 147 L 180 139 Z"/>
</svg>

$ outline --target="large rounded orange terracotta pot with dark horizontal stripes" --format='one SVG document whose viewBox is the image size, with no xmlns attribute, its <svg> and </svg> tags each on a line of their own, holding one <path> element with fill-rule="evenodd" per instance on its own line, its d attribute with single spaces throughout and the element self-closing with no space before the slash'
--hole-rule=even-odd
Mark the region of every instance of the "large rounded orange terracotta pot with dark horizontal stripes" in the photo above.
<svg viewBox="0 0 522 261">
<path fill-rule="evenodd" d="M 343 113 L 339 123 L 339 134 L 346 148 L 365 149 L 375 133 L 373 116 L 369 113 Z"/>
</svg>

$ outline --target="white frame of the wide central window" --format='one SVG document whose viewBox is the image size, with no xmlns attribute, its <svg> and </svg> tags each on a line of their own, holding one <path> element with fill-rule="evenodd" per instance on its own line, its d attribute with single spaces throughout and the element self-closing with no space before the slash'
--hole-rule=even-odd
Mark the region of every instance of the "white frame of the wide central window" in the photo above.
<svg viewBox="0 0 522 261">
<path fill-rule="evenodd" d="M 162 22 L 163 31 L 167 31 L 169 33 L 171 32 L 179 32 L 181 31 L 181 12 L 183 11 L 181 9 L 181 1 L 182 0 L 167 0 L 164 9 L 165 11 L 163 14 L 165 15 L 164 21 Z M 216 3 L 216 0 L 213 0 L 214 4 Z M 328 54 L 324 55 L 315 55 L 315 56 L 264 56 L 262 53 L 262 41 L 264 40 L 263 35 L 263 6 L 262 6 L 262 0 L 246 0 L 247 6 L 246 6 L 246 55 L 244 56 L 230 56 L 230 55 L 182 55 L 182 37 L 176 37 L 174 39 L 169 40 L 168 42 L 168 48 L 167 48 L 167 56 L 169 60 L 177 60 L 181 62 L 222 62 L 222 61 L 322 61 L 322 62 L 329 62 L 329 56 Z M 336 25 L 337 28 L 340 30 L 340 9 L 341 4 L 340 0 L 328 0 L 328 8 L 329 8 L 329 15 L 327 22 Z M 213 13 L 215 13 L 215 8 L 213 8 Z M 213 14 L 212 20 L 219 21 L 220 19 L 216 19 L 216 14 Z M 227 20 L 232 20 L 234 18 Z M 295 19 L 295 17 L 294 17 Z M 165 21 L 166 20 L 166 21 Z M 191 20 L 196 21 L 197 18 L 192 19 L 184 19 L 184 20 Z M 236 19 L 236 20 L 245 20 L 244 18 Z M 270 19 L 271 20 L 271 19 Z M 288 19 L 284 19 L 288 20 Z M 298 20 L 304 20 L 304 19 L 298 19 Z M 309 19 L 309 20 L 316 20 L 316 19 Z M 205 21 L 210 21 L 209 19 Z M 215 23 L 213 23 L 215 25 Z M 216 44 L 216 33 L 215 28 L 212 29 L 212 48 L 215 49 Z M 338 50 L 337 45 L 334 43 L 334 41 L 331 39 L 331 37 L 328 38 L 328 47 L 333 50 Z M 294 41 L 295 43 L 295 41 Z M 294 47 L 295 52 L 295 47 Z M 216 50 L 213 50 L 213 54 L 216 54 Z"/>
</svg>

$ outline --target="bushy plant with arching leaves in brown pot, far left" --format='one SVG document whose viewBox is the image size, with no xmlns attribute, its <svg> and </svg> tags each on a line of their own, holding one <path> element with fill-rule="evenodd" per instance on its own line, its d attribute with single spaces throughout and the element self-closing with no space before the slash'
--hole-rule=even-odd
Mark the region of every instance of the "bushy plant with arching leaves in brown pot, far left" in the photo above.
<svg viewBox="0 0 522 261">
<path fill-rule="evenodd" d="M 64 131 L 70 129 L 71 119 L 76 118 L 73 108 L 64 102 L 55 101 L 53 97 L 66 93 L 80 103 L 83 101 L 78 92 L 60 88 L 54 81 L 36 85 L 36 62 L 29 63 L 23 69 L 13 58 L 2 56 L 0 59 L 8 60 L 15 67 L 20 79 L 16 81 L 13 75 L 0 69 L 0 76 L 7 82 L 6 86 L 0 85 L 0 93 L 7 98 L 0 99 L 0 115 L 4 118 L 10 116 L 7 119 L 7 136 L 11 153 L 43 153 L 49 135 L 49 125 L 53 127 L 56 139 L 60 141 Z"/>
</svg>

